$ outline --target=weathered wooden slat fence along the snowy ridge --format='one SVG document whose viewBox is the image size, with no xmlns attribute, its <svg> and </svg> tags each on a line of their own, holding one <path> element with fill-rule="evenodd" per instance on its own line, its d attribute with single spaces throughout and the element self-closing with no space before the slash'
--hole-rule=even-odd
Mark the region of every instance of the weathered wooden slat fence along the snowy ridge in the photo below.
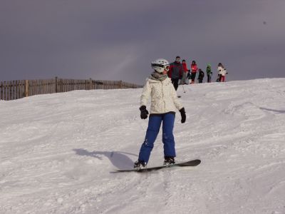
<svg viewBox="0 0 285 214">
<path fill-rule="evenodd" d="M 1 81 L 0 100 L 11 101 L 26 96 L 74 90 L 119 88 L 142 88 L 142 86 L 124 81 L 96 81 L 91 78 L 88 80 L 77 80 L 56 77 L 48 80 Z"/>
</svg>

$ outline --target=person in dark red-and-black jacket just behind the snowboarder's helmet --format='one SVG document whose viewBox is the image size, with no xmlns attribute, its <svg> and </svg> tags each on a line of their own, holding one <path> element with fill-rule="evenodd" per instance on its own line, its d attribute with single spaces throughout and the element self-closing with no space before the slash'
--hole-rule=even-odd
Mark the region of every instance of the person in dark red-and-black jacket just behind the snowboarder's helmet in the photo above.
<svg viewBox="0 0 285 214">
<path fill-rule="evenodd" d="M 180 56 L 176 56 L 175 61 L 170 63 L 170 70 L 168 72 L 168 77 L 171 78 L 172 84 L 177 91 L 178 82 L 182 79 L 183 75 L 183 66 L 180 63 Z"/>
</svg>

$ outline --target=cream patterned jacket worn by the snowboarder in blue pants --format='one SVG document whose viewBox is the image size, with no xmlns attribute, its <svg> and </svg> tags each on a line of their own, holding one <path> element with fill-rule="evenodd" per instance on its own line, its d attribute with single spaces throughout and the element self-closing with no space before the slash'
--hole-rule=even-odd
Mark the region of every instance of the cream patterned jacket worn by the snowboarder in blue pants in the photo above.
<svg viewBox="0 0 285 214">
<path fill-rule="evenodd" d="M 164 81 L 156 81 L 147 78 L 145 86 L 140 96 L 140 106 L 147 106 L 148 98 L 151 98 L 150 113 L 167 113 L 183 108 L 171 79 L 166 78 Z"/>
</svg>

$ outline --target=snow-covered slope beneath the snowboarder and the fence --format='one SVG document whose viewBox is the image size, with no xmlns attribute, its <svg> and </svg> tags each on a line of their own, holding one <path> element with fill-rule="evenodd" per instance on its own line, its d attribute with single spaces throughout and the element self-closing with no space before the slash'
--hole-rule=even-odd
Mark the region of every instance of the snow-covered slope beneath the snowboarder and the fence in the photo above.
<svg viewBox="0 0 285 214">
<path fill-rule="evenodd" d="M 184 87 L 176 159 L 202 163 L 151 173 L 110 173 L 138 158 L 141 88 L 0 101 L 0 213 L 285 213 L 285 78 Z"/>
</svg>

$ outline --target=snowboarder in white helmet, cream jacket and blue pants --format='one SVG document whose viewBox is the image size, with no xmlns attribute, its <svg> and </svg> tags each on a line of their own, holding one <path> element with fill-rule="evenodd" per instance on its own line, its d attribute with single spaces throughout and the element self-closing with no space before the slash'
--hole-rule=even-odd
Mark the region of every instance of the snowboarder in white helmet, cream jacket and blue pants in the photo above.
<svg viewBox="0 0 285 214">
<path fill-rule="evenodd" d="M 138 161 L 134 168 L 145 168 L 150 158 L 157 134 L 160 131 L 162 123 L 162 143 L 164 148 L 164 164 L 171 165 L 175 163 L 175 139 L 173 136 L 173 127 L 175 121 L 175 111 L 179 110 L 181 114 L 181 123 L 186 121 L 185 108 L 177 98 L 177 93 L 172 81 L 167 77 L 170 65 L 167 60 L 158 58 L 151 63 L 155 70 L 147 78 L 145 86 L 140 96 L 140 118 L 146 119 L 148 116 L 147 101 L 150 98 L 150 117 L 145 134 L 145 141 L 140 147 Z"/>
</svg>

